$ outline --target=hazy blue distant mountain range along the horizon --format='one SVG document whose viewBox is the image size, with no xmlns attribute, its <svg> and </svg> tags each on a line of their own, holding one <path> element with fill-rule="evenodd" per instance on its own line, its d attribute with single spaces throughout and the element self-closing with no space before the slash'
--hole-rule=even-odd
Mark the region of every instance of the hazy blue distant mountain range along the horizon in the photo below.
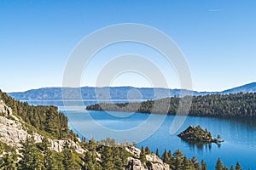
<svg viewBox="0 0 256 170">
<path fill-rule="evenodd" d="M 161 99 L 168 96 L 181 96 L 181 89 L 170 88 L 134 88 L 134 87 L 105 87 L 105 88 L 38 88 L 26 92 L 9 93 L 19 100 L 61 100 L 62 91 L 65 99 L 79 99 L 80 93 L 83 99 Z M 222 92 L 197 92 L 183 90 L 183 95 L 192 94 L 237 94 L 256 92 L 256 82 L 252 82 L 237 88 L 230 88 Z M 110 97 L 111 96 L 111 97 Z"/>
</svg>

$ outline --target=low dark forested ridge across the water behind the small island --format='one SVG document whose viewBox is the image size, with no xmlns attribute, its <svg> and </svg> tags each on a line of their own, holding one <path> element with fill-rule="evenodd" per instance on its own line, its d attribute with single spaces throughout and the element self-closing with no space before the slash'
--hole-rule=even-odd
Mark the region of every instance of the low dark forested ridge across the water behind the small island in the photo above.
<svg viewBox="0 0 256 170">
<path fill-rule="evenodd" d="M 184 98 L 190 98 L 185 96 Z M 163 114 L 163 108 L 169 106 L 168 115 L 175 115 L 179 105 L 179 97 L 157 100 L 159 105 L 154 105 L 154 100 L 139 103 L 122 103 L 89 105 L 87 110 L 102 111 L 137 111 L 142 113 Z M 170 101 L 170 102 L 169 102 Z M 102 105 L 102 106 L 101 106 Z M 138 109 L 137 109 L 138 108 Z M 164 113 L 166 114 L 166 113 Z M 256 93 L 247 94 L 211 94 L 205 96 L 193 96 L 192 105 L 189 111 L 190 116 L 256 116 Z"/>
</svg>

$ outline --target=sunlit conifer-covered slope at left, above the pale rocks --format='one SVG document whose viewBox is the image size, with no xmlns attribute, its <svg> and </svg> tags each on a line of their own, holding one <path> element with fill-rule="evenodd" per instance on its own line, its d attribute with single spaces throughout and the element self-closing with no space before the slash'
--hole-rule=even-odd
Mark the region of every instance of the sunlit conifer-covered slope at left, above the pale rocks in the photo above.
<svg viewBox="0 0 256 170">
<path fill-rule="evenodd" d="M 15 115 L 20 116 L 24 122 L 36 129 L 49 133 L 56 139 L 65 139 L 74 134 L 68 128 L 67 117 L 58 112 L 55 106 L 28 105 L 11 98 L 0 90 L 0 99 L 12 108 Z"/>
</svg>

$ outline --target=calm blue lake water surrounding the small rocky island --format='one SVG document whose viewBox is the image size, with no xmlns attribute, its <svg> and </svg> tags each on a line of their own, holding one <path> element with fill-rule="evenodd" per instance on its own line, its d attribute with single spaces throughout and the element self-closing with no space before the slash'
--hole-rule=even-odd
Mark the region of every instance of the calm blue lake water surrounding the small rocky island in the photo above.
<svg viewBox="0 0 256 170">
<path fill-rule="evenodd" d="M 90 101 L 90 104 L 93 103 L 96 101 Z M 59 107 L 59 109 L 63 110 L 64 108 Z M 155 152 L 158 148 L 160 153 L 165 149 L 171 150 L 172 153 L 180 149 L 189 158 L 196 156 L 200 161 L 203 158 L 207 162 L 208 169 L 214 169 L 218 157 L 228 167 L 239 161 L 243 169 L 256 169 L 256 120 L 253 119 L 188 116 L 181 128 L 176 133 L 170 134 L 170 127 L 175 116 L 154 115 L 150 117 L 153 114 L 84 111 L 83 109 L 73 111 L 72 108 L 63 112 L 68 117 L 69 126 L 74 132 L 79 133 L 80 137 L 85 136 L 87 139 L 93 137 L 97 140 L 110 137 L 124 142 L 124 139 L 133 141 L 133 139 L 140 139 L 143 136 L 143 140 L 137 144 L 138 147 L 142 144 L 148 145 L 150 150 Z M 162 120 L 164 122 L 160 127 L 154 126 Z M 148 126 L 139 128 L 143 124 Z M 190 125 L 207 128 L 213 137 L 220 134 L 224 143 L 196 145 L 184 142 L 177 137 L 177 133 L 182 132 Z M 149 132 L 150 129 L 155 132 Z M 151 133 L 152 135 L 150 135 Z M 144 138 L 145 136 L 147 138 Z"/>
</svg>

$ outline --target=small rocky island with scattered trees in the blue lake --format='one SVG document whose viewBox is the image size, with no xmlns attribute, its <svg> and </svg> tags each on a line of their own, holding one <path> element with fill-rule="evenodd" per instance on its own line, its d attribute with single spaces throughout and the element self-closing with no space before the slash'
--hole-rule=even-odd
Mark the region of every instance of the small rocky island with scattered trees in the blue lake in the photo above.
<svg viewBox="0 0 256 170">
<path fill-rule="evenodd" d="M 201 142 L 201 143 L 221 143 L 224 140 L 220 139 L 218 135 L 217 139 L 212 138 L 212 134 L 204 129 L 202 129 L 199 125 L 197 127 L 189 126 L 186 130 L 182 133 L 177 135 L 181 139 L 188 141 L 188 142 Z"/>
</svg>

